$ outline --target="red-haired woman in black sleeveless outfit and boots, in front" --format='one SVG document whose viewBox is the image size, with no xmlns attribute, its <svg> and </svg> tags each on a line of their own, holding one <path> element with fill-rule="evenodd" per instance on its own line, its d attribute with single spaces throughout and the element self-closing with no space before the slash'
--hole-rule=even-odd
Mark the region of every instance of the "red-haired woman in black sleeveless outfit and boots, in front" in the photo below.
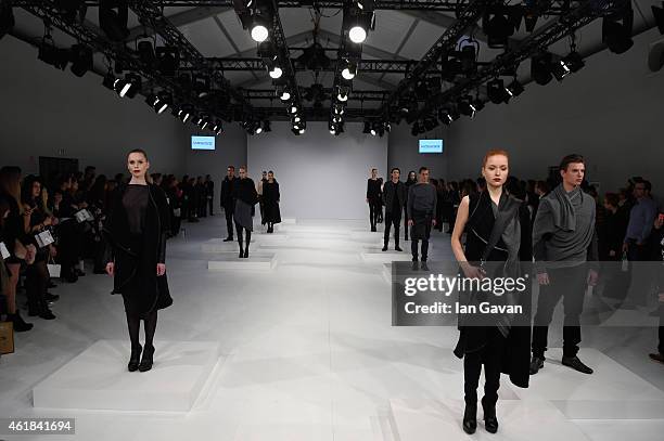
<svg viewBox="0 0 664 441">
<path fill-rule="evenodd" d="M 489 151 L 484 157 L 482 174 L 487 181 L 487 190 L 464 196 L 459 206 L 451 247 L 465 277 L 483 278 L 524 276 L 532 261 L 532 239 L 529 212 L 526 205 L 503 190 L 509 173 L 508 155 L 505 151 Z M 496 230 L 494 232 L 494 230 Z M 465 249 L 461 246 L 461 234 L 465 231 Z M 494 234 L 491 234 L 494 233 Z M 491 246 L 493 245 L 493 246 Z M 483 270 L 477 262 L 489 263 Z M 526 284 L 527 286 L 527 284 Z M 476 293 L 470 294 L 474 296 Z M 460 293 L 459 301 L 468 301 Z M 470 297 L 469 296 L 469 297 Z M 483 294 L 471 300 L 476 301 Z M 485 297 L 494 296 L 488 294 Z M 487 321 L 461 324 L 459 342 L 455 354 L 463 358 L 465 412 L 463 430 L 473 433 L 477 426 L 477 386 L 484 365 L 484 423 L 488 432 L 498 430 L 496 402 L 500 373 L 509 374 L 518 387 L 528 387 L 528 366 L 531 347 L 529 289 L 512 296 L 500 297 L 519 302 L 523 314 L 512 317 L 496 316 Z M 496 300 L 498 297 L 482 299 Z M 470 320 L 475 320 L 471 317 Z M 468 319 L 467 319 L 468 320 Z"/>
</svg>

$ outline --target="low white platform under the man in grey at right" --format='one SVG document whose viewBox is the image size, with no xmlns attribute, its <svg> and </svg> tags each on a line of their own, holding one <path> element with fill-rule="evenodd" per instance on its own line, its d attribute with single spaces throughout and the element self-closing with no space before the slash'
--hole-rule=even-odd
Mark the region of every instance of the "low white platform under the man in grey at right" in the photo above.
<svg viewBox="0 0 664 441">
<path fill-rule="evenodd" d="M 664 391 L 597 349 L 582 347 L 578 356 L 592 375 L 563 366 L 562 349 L 553 348 L 529 387 L 514 391 L 523 400 L 550 401 L 572 419 L 664 418 Z"/>
</svg>

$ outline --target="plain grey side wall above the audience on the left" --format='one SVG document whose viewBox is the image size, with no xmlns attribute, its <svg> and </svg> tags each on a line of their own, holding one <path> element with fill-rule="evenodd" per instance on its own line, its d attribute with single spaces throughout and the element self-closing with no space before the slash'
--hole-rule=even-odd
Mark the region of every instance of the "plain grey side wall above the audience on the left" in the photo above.
<svg viewBox="0 0 664 441">
<path fill-rule="evenodd" d="M 78 78 L 49 66 L 10 36 L 0 40 L 0 165 L 37 173 L 39 156 L 61 156 L 112 177 L 128 173 L 128 151 L 143 148 L 151 171 L 183 171 L 182 124 L 156 115 L 142 96 L 120 99 L 93 73 Z"/>
</svg>

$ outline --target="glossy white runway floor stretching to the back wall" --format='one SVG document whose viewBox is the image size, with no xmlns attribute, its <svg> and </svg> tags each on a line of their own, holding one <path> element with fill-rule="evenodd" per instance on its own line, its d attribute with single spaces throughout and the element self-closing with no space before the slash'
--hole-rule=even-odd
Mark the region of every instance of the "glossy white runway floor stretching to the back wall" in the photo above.
<svg viewBox="0 0 664 441">
<path fill-rule="evenodd" d="M 67 397 L 81 394 L 72 381 L 78 360 L 90 366 L 81 373 L 89 387 L 126 368 L 129 348 L 123 302 L 108 294 L 110 277 L 89 271 L 77 284 L 62 284 L 53 290 L 61 295 L 53 307 L 58 320 L 33 320 L 35 328 L 16 336 L 16 353 L 0 359 L 0 417 L 74 417 L 76 436 L 58 439 L 95 441 L 662 439 L 664 366 L 647 358 L 656 346 L 652 327 L 584 328 L 580 355 L 596 367 L 593 376 L 561 366 L 551 350 L 529 389 L 503 377 L 498 433 L 484 431 L 480 420 L 477 433 L 465 436 L 462 363 L 451 353 L 457 330 L 391 326 L 384 259 L 367 255 L 380 252 L 382 233 L 368 233 L 367 223 L 298 220 L 279 225 L 272 237 L 258 229 L 250 260 L 273 255 L 273 262 L 241 270 L 224 268 L 239 260 L 235 248 L 203 250 L 225 236 L 224 216 L 184 223 L 186 237 L 168 245 L 175 303 L 159 313 L 154 371 L 126 375 L 135 376 L 131 381 L 152 375 L 136 384 L 154 390 L 159 373 L 188 363 L 168 346 L 218 346 L 219 359 L 189 412 L 64 408 Z M 449 235 L 433 236 L 430 260 L 451 259 Z M 404 255 L 409 245 L 401 244 Z M 550 341 L 560 343 L 561 320 L 556 323 Z M 106 345 L 100 340 L 125 341 L 125 353 L 113 346 L 113 354 L 99 355 L 105 369 L 90 372 L 90 354 Z M 54 373 L 67 378 L 56 392 L 63 408 L 35 407 L 33 389 Z M 193 382 L 180 378 L 178 385 Z M 122 397 L 113 400 L 122 405 Z"/>
</svg>

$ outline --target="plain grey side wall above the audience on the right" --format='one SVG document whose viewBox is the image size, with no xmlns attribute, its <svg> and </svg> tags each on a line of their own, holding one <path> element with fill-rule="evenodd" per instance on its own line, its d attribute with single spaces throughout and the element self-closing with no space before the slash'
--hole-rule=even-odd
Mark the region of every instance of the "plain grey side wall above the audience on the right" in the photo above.
<svg viewBox="0 0 664 441">
<path fill-rule="evenodd" d="M 648 46 L 661 38 L 652 29 L 622 55 L 600 52 L 561 83 L 529 83 L 510 104 L 488 104 L 474 120 L 456 121 L 450 179 L 477 177 L 489 148 L 510 152 L 511 172 L 524 179 L 546 179 L 548 166 L 579 153 L 601 193 L 643 176 L 664 194 L 664 70 L 647 67 Z"/>
</svg>

